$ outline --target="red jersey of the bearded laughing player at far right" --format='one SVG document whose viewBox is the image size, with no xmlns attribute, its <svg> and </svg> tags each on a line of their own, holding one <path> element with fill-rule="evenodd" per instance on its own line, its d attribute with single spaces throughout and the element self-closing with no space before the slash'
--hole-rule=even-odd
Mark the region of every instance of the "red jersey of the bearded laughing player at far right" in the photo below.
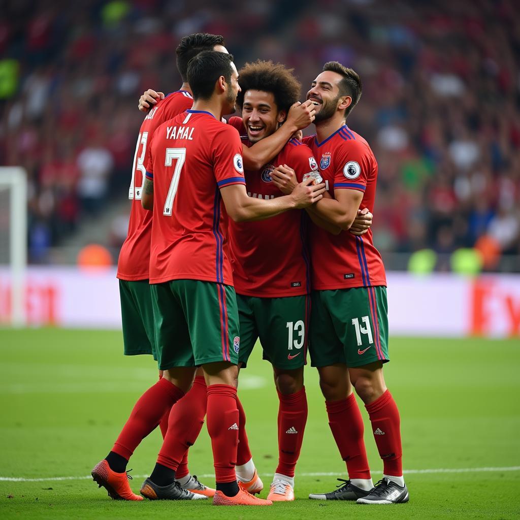
<svg viewBox="0 0 520 520">
<path fill-rule="evenodd" d="M 346 125 L 322 142 L 315 135 L 304 142 L 313 150 L 331 196 L 337 189 L 362 191 L 360 208 L 368 207 L 373 213 L 378 163 L 368 142 Z M 372 242 L 371 229 L 360 237 L 349 231 L 332 235 L 311 224 L 310 248 L 313 289 L 386 285 L 385 268 Z"/>
</svg>

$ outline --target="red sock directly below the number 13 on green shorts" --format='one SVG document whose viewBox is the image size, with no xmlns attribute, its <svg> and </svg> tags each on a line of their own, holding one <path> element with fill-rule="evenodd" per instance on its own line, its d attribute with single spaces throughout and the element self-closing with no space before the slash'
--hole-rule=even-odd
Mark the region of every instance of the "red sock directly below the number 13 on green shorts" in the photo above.
<svg viewBox="0 0 520 520">
<path fill-rule="evenodd" d="M 305 387 L 295 394 L 278 392 L 278 466 L 276 473 L 294 477 L 294 468 L 302 449 L 303 432 L 307 422 Z"/>
</svg>

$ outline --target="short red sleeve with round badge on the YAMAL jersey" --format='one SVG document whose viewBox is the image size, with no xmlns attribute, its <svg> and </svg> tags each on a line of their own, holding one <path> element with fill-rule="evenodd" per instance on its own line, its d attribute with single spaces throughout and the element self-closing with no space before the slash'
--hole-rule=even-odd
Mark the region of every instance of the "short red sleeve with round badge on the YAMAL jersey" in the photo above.
<svg viewBox="0 0 520 520">
<path fill-rule="evenodd" d="M 232 184 L 245 184 L 242 142 L 237 131 L 229 125 L 222 125 L 213 138 L 212 150 L 217 186 L 224 188 Z"/>
</svg>

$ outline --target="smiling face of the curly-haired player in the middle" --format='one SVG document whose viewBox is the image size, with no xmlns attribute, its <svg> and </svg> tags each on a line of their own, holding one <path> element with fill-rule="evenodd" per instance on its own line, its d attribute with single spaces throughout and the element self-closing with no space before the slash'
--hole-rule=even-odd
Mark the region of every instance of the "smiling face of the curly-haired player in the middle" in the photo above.
<svg viewBox="0 0 520 520">
<path fill-rule="evenodd" d="M 285 115 L 284 110 L 278 110 L 275 96 L 271 92 L 251 89 L 244 94 L 242 121 L 251 142 L 257 142 L 276 132 Z"/>
</svg>

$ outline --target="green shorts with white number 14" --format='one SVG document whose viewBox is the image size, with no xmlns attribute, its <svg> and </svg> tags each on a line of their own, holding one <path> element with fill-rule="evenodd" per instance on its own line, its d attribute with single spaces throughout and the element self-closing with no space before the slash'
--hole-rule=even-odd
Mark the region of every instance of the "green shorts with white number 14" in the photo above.
<svg viewBox="0 0 520 520">
<path fill-rule="evenodd" d="M 309 352 L 313 367 L 389 361 L 386 287 L 313 291 Z"/>
</svg>

